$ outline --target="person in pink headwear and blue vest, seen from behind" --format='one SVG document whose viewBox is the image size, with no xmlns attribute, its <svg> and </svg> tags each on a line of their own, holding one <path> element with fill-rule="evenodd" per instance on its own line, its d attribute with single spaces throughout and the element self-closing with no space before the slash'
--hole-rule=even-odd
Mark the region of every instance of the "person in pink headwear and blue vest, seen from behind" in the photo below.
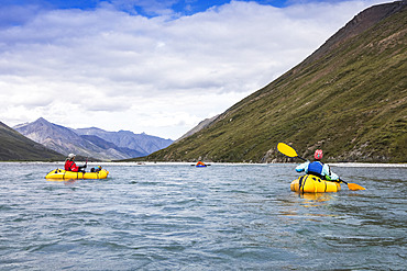
<svg viewBox="0 0 407 271">
<path fill-rule="evenodd" d="M 322 156 L 322 149 L 317 149 L 314 154 L 315 161 L 306 161 L 297 166 L 296 171 L 305 171 L 307 174 L 314 174 L 327 181 L 338 181 L 339 177 L 331 171 L 328 165 L 321 162 Z"/>
</svg>

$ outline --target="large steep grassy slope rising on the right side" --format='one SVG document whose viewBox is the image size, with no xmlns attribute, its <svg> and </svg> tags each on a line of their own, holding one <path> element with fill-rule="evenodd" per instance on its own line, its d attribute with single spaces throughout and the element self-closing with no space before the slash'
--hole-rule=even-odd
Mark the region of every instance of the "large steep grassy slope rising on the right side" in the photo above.
<svg viewBox="0 0 407 271">
<path fill-rule="evenodd" d="M 372 7 L 315 54 L 221 114 L 144 158 L 266 162 L 278 142 L 326 161 L 407 161 L 406 3 Z"/>
</svg>

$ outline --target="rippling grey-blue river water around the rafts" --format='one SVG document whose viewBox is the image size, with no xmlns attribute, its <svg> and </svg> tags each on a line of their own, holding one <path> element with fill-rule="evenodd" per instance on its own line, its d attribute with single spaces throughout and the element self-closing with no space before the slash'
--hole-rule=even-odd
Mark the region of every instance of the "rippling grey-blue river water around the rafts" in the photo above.
<svg viewBox="0 0 407 271">
<path fill-rule="evenodd" d="M 332 167 L 366 190 L 317 195 L 289 163 L 56 167 L 0 163 L 0 270 L 406 270 L 406 167 Z"/>
</svg>

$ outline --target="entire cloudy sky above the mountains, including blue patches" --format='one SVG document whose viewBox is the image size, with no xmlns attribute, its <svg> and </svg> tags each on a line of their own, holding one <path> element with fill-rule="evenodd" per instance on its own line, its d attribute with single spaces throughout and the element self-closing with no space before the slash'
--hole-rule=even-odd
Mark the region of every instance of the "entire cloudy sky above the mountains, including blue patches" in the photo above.
<svg viewBox="0 0 407 271">
<path fill-rule="evenodd" d="M 0 121 L 177 139 L 387 0 L 0 0 Z"/>
</svg>

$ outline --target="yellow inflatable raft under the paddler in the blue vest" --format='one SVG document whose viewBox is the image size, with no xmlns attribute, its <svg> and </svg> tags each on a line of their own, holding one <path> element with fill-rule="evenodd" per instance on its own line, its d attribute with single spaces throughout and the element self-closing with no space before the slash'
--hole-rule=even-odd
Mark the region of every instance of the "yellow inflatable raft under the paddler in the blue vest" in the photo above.
<svg viewBox="0 0 407 271">
<path fill-rule="evenodd" d="M 341 190 L 339 182 L 321 180 L 312 174 L 301 176 L 292 182 L 292 191 L 299 193 L 338 192 Z"/>
</svg>

